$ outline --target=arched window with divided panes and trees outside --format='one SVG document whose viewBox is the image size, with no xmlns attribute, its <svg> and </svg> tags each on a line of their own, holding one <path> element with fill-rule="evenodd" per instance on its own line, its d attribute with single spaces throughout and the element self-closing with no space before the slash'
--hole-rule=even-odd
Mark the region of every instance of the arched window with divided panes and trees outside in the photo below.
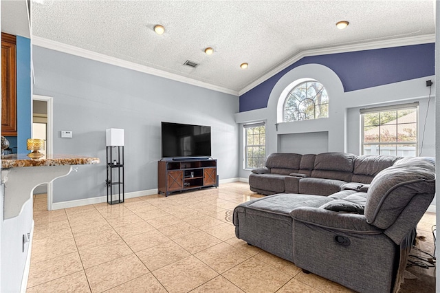
<svg viewBox="0 0 440 293">
<path fill-rule="evenodd" d="M 329 96 L 316 80 L 300 83 L 289 91 L 283 107 L 283 122 L 329 117 Z"/>
</svg>

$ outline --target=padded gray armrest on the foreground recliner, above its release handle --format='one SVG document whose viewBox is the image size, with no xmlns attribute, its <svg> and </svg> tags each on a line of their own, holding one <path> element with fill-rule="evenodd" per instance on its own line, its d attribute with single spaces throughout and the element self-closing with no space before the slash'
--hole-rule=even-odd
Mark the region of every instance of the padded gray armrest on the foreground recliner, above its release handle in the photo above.
<svg viewBox="0 0 440 293">
<path fill-rule="evenodd" d="M 366 222 L 364 215 L 333 212 L 324 208 L 301 207 L 290 213 L 295 221 L 319 226 L 321 228 L 340 230 L 359 234 L 382 234 L 382 229 Z"/>
</svg>

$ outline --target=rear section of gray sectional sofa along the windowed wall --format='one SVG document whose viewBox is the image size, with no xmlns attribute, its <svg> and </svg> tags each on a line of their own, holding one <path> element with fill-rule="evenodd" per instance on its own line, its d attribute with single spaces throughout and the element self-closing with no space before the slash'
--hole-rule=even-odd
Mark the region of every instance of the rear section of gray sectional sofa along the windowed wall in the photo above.
<svg viewBox="0 0 440 293">
<path fill-rule="evenodd" d="M 249 185 L 251 191 L 263 195 L 331 195 L 348 182 L 369 184 L 377 173 L 399 159 L 391 155 L 357 156 L 351 153 L 272 153 L 264 168 L 252 170 Z"/>
</svg>

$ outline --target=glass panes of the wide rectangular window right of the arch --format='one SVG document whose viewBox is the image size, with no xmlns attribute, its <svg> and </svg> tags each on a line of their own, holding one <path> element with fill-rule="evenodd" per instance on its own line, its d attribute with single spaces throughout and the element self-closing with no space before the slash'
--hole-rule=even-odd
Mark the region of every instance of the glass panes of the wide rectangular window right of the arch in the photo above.
<svg viewBox="0 0 440 293">
<path fill-rule="evenodd" d="M 417 156 L 418 104 L 395 107 L 361 110 L 363 155 Z"/>
</svg>

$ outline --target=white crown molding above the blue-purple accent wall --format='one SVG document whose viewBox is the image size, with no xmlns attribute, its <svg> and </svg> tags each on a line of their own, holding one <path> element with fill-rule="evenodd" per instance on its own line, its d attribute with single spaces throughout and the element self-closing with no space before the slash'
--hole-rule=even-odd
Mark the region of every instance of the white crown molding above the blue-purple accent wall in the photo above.
<svg viewBox="0 0 440 293">
<path fill-rule="evenodd" d="M 274 69 L 267 72 L 267 74 L 261 76 L 253 83 L 250 83 L 243 89 L 239 91 L 239 96 L 245 94 L 250 91 L 257 85 L 263 83 L 265 80 L 271 78 L 278 72 L 281 72 L 283 69 L 286 69 L 290 65 L 294 64 L 296 61 L 299 61 L 301 58 L 307 56 L 317 56 L 317 55 L 328 55 L 328 54 L 337 54 L 337 53 L 346 53 L 346 52 L 355 52 L 355 51 L 364 51 L 364 50 L 374 50 L 374 49 L 383 49 L 387 47 L 401 47 L 408 45 L 420 45 L 426 43 L 435 43 L 435 34 L 424 34 L 423 36 L 409 36 L 406 38 L 399 39 L 389 39 L 384 41 L 373 41 L 369 43 L 355 43 L 350 45 L 340 45 L 335 47 L 322 47 L 314 50 L 306 50 L 303 52 L 299 52 L 292 58 L 289 58 L 287 61 L 283 62 L 281 65 L 278 65 Z"/>
</svg>

